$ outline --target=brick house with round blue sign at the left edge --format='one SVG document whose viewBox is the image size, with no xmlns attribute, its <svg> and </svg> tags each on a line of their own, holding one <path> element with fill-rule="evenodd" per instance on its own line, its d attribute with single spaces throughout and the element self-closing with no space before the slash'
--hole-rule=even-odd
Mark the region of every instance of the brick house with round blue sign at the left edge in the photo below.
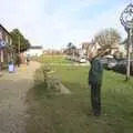
<svg viewBox="0 0 133 133">
<path fill-rule="evenodd" d="M 12 39 L 8 30 L 0 24 L 0 70 L 8 64 L 10 60 L 9 47 L 12 43 Z"/>
</svg>

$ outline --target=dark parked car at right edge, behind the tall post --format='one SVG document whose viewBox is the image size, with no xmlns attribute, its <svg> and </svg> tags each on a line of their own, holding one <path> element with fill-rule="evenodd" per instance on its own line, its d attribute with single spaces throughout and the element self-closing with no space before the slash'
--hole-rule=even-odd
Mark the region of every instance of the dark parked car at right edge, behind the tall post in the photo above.
<svg viewBox="0 0 133 133">
<path fill-rule="evenodd" d="M 131 75 L 133 75 L 133 60 L 131 60 L 130 62 L 131 62 L 130 63 Z M 126 73 L 126 64 L 127 64 L 127 60 L 122 60 L 113 68 L 113 70 L 125 74 Z"/>
</svg>

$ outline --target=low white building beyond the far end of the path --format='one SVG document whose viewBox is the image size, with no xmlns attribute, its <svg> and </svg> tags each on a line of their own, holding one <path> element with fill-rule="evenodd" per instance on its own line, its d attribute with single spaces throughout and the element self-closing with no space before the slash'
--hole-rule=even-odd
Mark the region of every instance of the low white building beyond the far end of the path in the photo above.
<svg viewBox="0 0 133 133">
<path fill-rule="evenodd" d="M 32 45 L 27 52 L 25 54 L 30 55 L 30 57 L 40 57 L 43 54 L 43 48 L 40 45 Z"/>
</svg>

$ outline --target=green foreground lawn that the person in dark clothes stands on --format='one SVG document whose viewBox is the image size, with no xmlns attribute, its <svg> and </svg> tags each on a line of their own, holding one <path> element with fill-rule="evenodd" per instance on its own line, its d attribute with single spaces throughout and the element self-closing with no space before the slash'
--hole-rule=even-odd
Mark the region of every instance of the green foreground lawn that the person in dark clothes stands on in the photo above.
<svg viewBox="0 0 133 133">
<path fill-rule="evenodd" d="M 28 94 L 28 133 L 133 133 L 133 79 L 104 72 L 102 115 L 91 113 L 88 66 L 53 65 L 54 75 L 72 94 L 47 95 L 43 88 Z M 34 91 L 35 90 L 35 91 Z"/>
</svg>

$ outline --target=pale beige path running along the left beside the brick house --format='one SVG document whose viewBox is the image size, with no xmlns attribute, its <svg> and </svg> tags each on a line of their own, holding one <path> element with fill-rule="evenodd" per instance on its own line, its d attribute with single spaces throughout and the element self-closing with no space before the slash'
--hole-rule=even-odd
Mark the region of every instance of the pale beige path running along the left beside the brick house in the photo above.
<svg viewBox="0 0 133 133">
<path fill-rule="evenodd" d="M 27 92 L 33 85 L 37 62 L 23 65 L 16 73 L 0 76 L 0 133 L 25 133 Z"/>
</svg>

